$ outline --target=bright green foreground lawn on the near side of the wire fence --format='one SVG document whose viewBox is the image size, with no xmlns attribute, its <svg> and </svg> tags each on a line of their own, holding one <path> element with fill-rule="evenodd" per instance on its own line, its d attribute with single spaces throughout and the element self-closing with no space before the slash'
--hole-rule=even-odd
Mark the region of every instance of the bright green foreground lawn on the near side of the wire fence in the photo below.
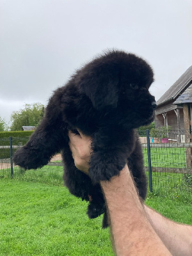
<svg viewBox="0 0 192 256">
<path fill-rule="evenodd" d="M 67 188 L 1 179 L 0 189 L 0 255 L 113 255 L 102 217 L 89 220 L 87 203 Z M 148 194 L 146 203 L 192 225 L 190 197 L 169 200 Z"/>
</svg>

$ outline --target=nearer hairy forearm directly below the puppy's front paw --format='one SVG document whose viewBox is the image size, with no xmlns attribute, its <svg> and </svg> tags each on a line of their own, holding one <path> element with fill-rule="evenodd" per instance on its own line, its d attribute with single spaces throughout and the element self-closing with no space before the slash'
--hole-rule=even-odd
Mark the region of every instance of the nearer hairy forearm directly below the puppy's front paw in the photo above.
<svg viewBox="0 0 192 256">
<path fill-rule="evenodd" d="M 109 182 L 100 182 L 116 255 L 171 255 L 147 220 L 127 166 Z"/>
</svg>

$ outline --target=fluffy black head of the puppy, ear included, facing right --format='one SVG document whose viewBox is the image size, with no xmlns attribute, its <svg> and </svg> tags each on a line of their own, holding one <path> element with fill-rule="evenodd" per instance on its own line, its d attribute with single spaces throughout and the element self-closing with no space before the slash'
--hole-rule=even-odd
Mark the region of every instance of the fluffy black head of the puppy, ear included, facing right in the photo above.
<svg viewBox="0 0 192 256">
<path fill-rule="evenodd" d="M 76 84 L 98 111 L 113 111 L 127 128 L 149 124 L 156 101 L 148 89 L 154 73 L 148 63 L 124 51 L 108 51 L 77 71 Z"/>
</svg>

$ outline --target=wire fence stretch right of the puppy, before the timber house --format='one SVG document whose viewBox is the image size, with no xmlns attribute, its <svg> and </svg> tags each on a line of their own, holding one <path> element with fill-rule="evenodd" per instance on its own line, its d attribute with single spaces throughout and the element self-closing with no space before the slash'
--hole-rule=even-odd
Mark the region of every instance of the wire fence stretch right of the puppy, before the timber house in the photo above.
<svg viewBox="0 0 192 256">
<path fill-rule="evenodd" d="M 151 166 L 152 192 L 172 198 L 192 196 L 191 132 L 170 130 L 166 138 L 163 132 L 157 138 L 151 135 L 149 163 L 146 132 L 140 132 L 145 170 Z"/>
</svg>

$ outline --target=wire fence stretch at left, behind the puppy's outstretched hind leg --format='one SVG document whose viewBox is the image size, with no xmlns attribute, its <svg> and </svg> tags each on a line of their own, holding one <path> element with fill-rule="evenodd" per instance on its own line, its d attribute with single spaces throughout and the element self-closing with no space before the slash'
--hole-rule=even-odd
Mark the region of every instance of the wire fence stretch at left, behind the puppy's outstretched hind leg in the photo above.
<svg viewBox="0 0 192 256">
<path fill-rule="evenodd" d="M 61 154 L 52 157 L 46 166 L 36 170 L 24 170 L 13 164 L 13 154 L 28 140 L 29 137 L 0 139 L 0 179 L 17 179 L 63 186 Z"/>
</svg>

